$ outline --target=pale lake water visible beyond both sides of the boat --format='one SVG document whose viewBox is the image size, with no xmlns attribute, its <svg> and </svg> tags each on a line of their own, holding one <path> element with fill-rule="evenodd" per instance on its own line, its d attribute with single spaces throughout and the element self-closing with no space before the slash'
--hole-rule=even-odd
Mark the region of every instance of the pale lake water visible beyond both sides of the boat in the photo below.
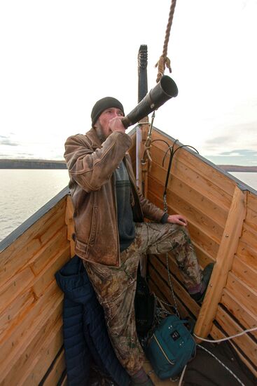
<svg viewBox="0 0 257 386">
<path fill-rule="evenodd" d="M 230 174 L 257 190 L 257 173 Z M 68 183 L 66 169 L 0 169 L 0 241 Z"/>
</svg>

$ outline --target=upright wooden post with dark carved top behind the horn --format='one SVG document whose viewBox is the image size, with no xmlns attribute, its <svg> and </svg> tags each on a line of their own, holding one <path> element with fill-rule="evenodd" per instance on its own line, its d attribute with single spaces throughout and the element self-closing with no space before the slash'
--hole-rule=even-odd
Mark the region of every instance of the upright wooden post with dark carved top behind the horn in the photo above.
<svg viewBox="0 0 257 386">
<path fill-rule="evenodd" d="M 147 82 L 147 46 L 141 45 L 138 53 L 138 102 L 148 93 Z M 147 196 L 148 163 L 141 164 L 144 155 L 144 144 L 148 134 L 148 117 L 141 119 L 137 127 L 137 186 Z"/>
</svg>

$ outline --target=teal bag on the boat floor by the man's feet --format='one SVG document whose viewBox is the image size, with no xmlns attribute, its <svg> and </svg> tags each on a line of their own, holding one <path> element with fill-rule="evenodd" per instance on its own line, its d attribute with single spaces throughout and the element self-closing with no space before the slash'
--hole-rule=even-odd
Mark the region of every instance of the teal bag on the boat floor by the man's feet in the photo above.
<svg viewBox="0 0 257 386">
<path fill-rule="evenodd" d="M 195 340 L 176 315 L 162 319 L 146 347 L 146 357 L 161 380 L 175 378 L 195 356 Z"/>
</svg>

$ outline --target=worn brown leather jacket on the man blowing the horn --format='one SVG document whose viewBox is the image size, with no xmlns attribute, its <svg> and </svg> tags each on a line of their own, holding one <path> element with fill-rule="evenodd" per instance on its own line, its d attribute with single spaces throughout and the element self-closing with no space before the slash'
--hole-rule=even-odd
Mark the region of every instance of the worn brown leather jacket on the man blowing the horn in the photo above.
<svg viewBox="0 0 257 386">
<path fill-rule="evenodd" d="M 127 150 L 129 135 L 114 132 L 101 143 L 94 128 L 85 135 L 69 137 L 64 158 L 69 169 L 71 197 L 74 203 L 76 253 L 91 262 L 119 267 L 120 246 L 116 213 L 114 171 L 124 161 L 132 186 L 132 206 L 137 222 L 144 216 L 160 222 L 164 211 L 138 192 Z"/>
</svg>

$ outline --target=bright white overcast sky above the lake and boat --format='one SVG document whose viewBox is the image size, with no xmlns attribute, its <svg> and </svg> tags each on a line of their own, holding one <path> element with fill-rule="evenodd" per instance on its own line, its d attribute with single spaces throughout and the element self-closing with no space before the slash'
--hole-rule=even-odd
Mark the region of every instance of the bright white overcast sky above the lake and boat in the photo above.
<svg viewBox="0 0 257 386">
<path fill-rule="evenodd" d="M 170 0 L 1 0 L 0 158 L 63 159 L 99 98 L 137 105 L 137 54 L 156 84 Z M 179 95 L 154 126 L 215 164 L 257 166 L 257 0 L 177 0 L 168 57 Z M 151 116 L 150 116 L 151 118 Z"/>
</svg>

